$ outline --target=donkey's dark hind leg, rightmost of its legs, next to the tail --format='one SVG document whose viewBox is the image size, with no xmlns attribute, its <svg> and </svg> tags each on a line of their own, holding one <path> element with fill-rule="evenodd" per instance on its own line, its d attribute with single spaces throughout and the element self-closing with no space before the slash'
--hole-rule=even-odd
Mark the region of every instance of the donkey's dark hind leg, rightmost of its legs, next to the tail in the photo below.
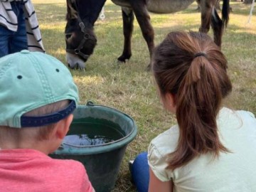
<svg viewBox="0 0 256 192">
<path fill-rule="evenodd" d="M 220 16 L 216 9 L 213 10 L 213 14 L 211 16 L 210 26 L 213 28 L 213 40 L 217 46 L 221 46 L 221 39 L 223 36 L 223 21 L 221 20 Z"/>
</svg>

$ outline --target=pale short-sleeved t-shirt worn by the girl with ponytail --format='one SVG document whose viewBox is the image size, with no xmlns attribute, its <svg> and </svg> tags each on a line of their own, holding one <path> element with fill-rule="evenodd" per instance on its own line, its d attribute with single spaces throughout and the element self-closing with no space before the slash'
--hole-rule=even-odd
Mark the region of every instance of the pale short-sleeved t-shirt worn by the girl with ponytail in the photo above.
<svg viewBox="0 0 256 192">
<path fill-rule="evenodd" d="M 166 155 L 175 151 L 179 130 L 175 125 L 149 145 L 149 166 L 161 181 L 174 182 L 174 191 L 256 191 L 256 119 L 251 112 L 220 110 L 220 141 L 232 153 L 218 159 L 203 154 L 174 171 L 166 169 Z"/>
</svg>

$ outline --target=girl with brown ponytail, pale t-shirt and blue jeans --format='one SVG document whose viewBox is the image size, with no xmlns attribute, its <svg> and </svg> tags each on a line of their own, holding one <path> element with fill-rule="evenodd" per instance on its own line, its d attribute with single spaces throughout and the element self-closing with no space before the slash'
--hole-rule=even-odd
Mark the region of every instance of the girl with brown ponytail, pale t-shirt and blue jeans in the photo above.
<svg viewBox="0 0 256 192">
<path fill-rule="evenodd" d="M 256 119 L 222 106 L 232 90 L 227 68 L 205 33 L 171 32 L 156 47 L 152 72 L 178 124 L 132 164 L 139 192 L 256 191 Z M 149 166 L 142 165 L 146 155 Z"/>
</svg>

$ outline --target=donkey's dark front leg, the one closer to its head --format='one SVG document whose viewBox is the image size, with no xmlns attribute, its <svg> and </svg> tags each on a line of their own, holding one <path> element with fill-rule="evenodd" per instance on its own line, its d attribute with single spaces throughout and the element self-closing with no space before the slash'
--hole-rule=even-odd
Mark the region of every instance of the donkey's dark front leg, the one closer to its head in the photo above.
<svg viewBox="0 0 256 192">
<path fill-rule="evenodd" d="M 123 53 L 117 60 L 125 63 L 132 56 L 131 38 L 133 31 L 134 13 L 132 9 L 122 7 L 123 33 L 124 33 L 124 49 Z"/>
</svg>

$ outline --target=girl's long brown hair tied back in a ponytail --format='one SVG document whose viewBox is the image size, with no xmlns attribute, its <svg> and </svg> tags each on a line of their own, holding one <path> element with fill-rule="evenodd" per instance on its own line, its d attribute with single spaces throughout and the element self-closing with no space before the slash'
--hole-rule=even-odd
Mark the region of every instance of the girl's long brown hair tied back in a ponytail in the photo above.
<svg viewBox="0 0 256 192">
<path fill-rule="evenodd" d="M 228 152 L 220 143 L 215 120 L 223 97 L 232 90 L 226 69 L 225 56 L 205 33 L 171 32 L 155 49 L 154 77 L 163 99 L 166 93 L 175 95 L 180 129 L 168 169 L 200 154 Z"/>
</svg>

